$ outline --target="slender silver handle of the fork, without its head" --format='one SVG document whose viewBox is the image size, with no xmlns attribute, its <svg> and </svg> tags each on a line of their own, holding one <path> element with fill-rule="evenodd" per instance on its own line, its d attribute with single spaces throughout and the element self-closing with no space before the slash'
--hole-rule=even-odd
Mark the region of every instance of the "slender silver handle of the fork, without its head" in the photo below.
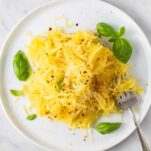
<svg viewBox="0 0 151 151">
<path fill-rule="evenodd" d="M 137 122 L 137 119 L 136 119 L 136 116 L 135 116 L 135 114 L 133 112 L 133 109 L 130 108 L 130 111 L 131 111 L 131 113 L 133 115 L 133 121 L 134 121 L 134 124 L 136 126 L 136 130 L 138 132 L 138 136 L 139 136 L 143 151 L 151 151 L 151 149 L 149 147 L 149 144 L 146 142 L 146 139 L 145 139 L 144 133 L 142 131 L 142 128 L 140 127 L 140 125 Z"/>
</svg>

